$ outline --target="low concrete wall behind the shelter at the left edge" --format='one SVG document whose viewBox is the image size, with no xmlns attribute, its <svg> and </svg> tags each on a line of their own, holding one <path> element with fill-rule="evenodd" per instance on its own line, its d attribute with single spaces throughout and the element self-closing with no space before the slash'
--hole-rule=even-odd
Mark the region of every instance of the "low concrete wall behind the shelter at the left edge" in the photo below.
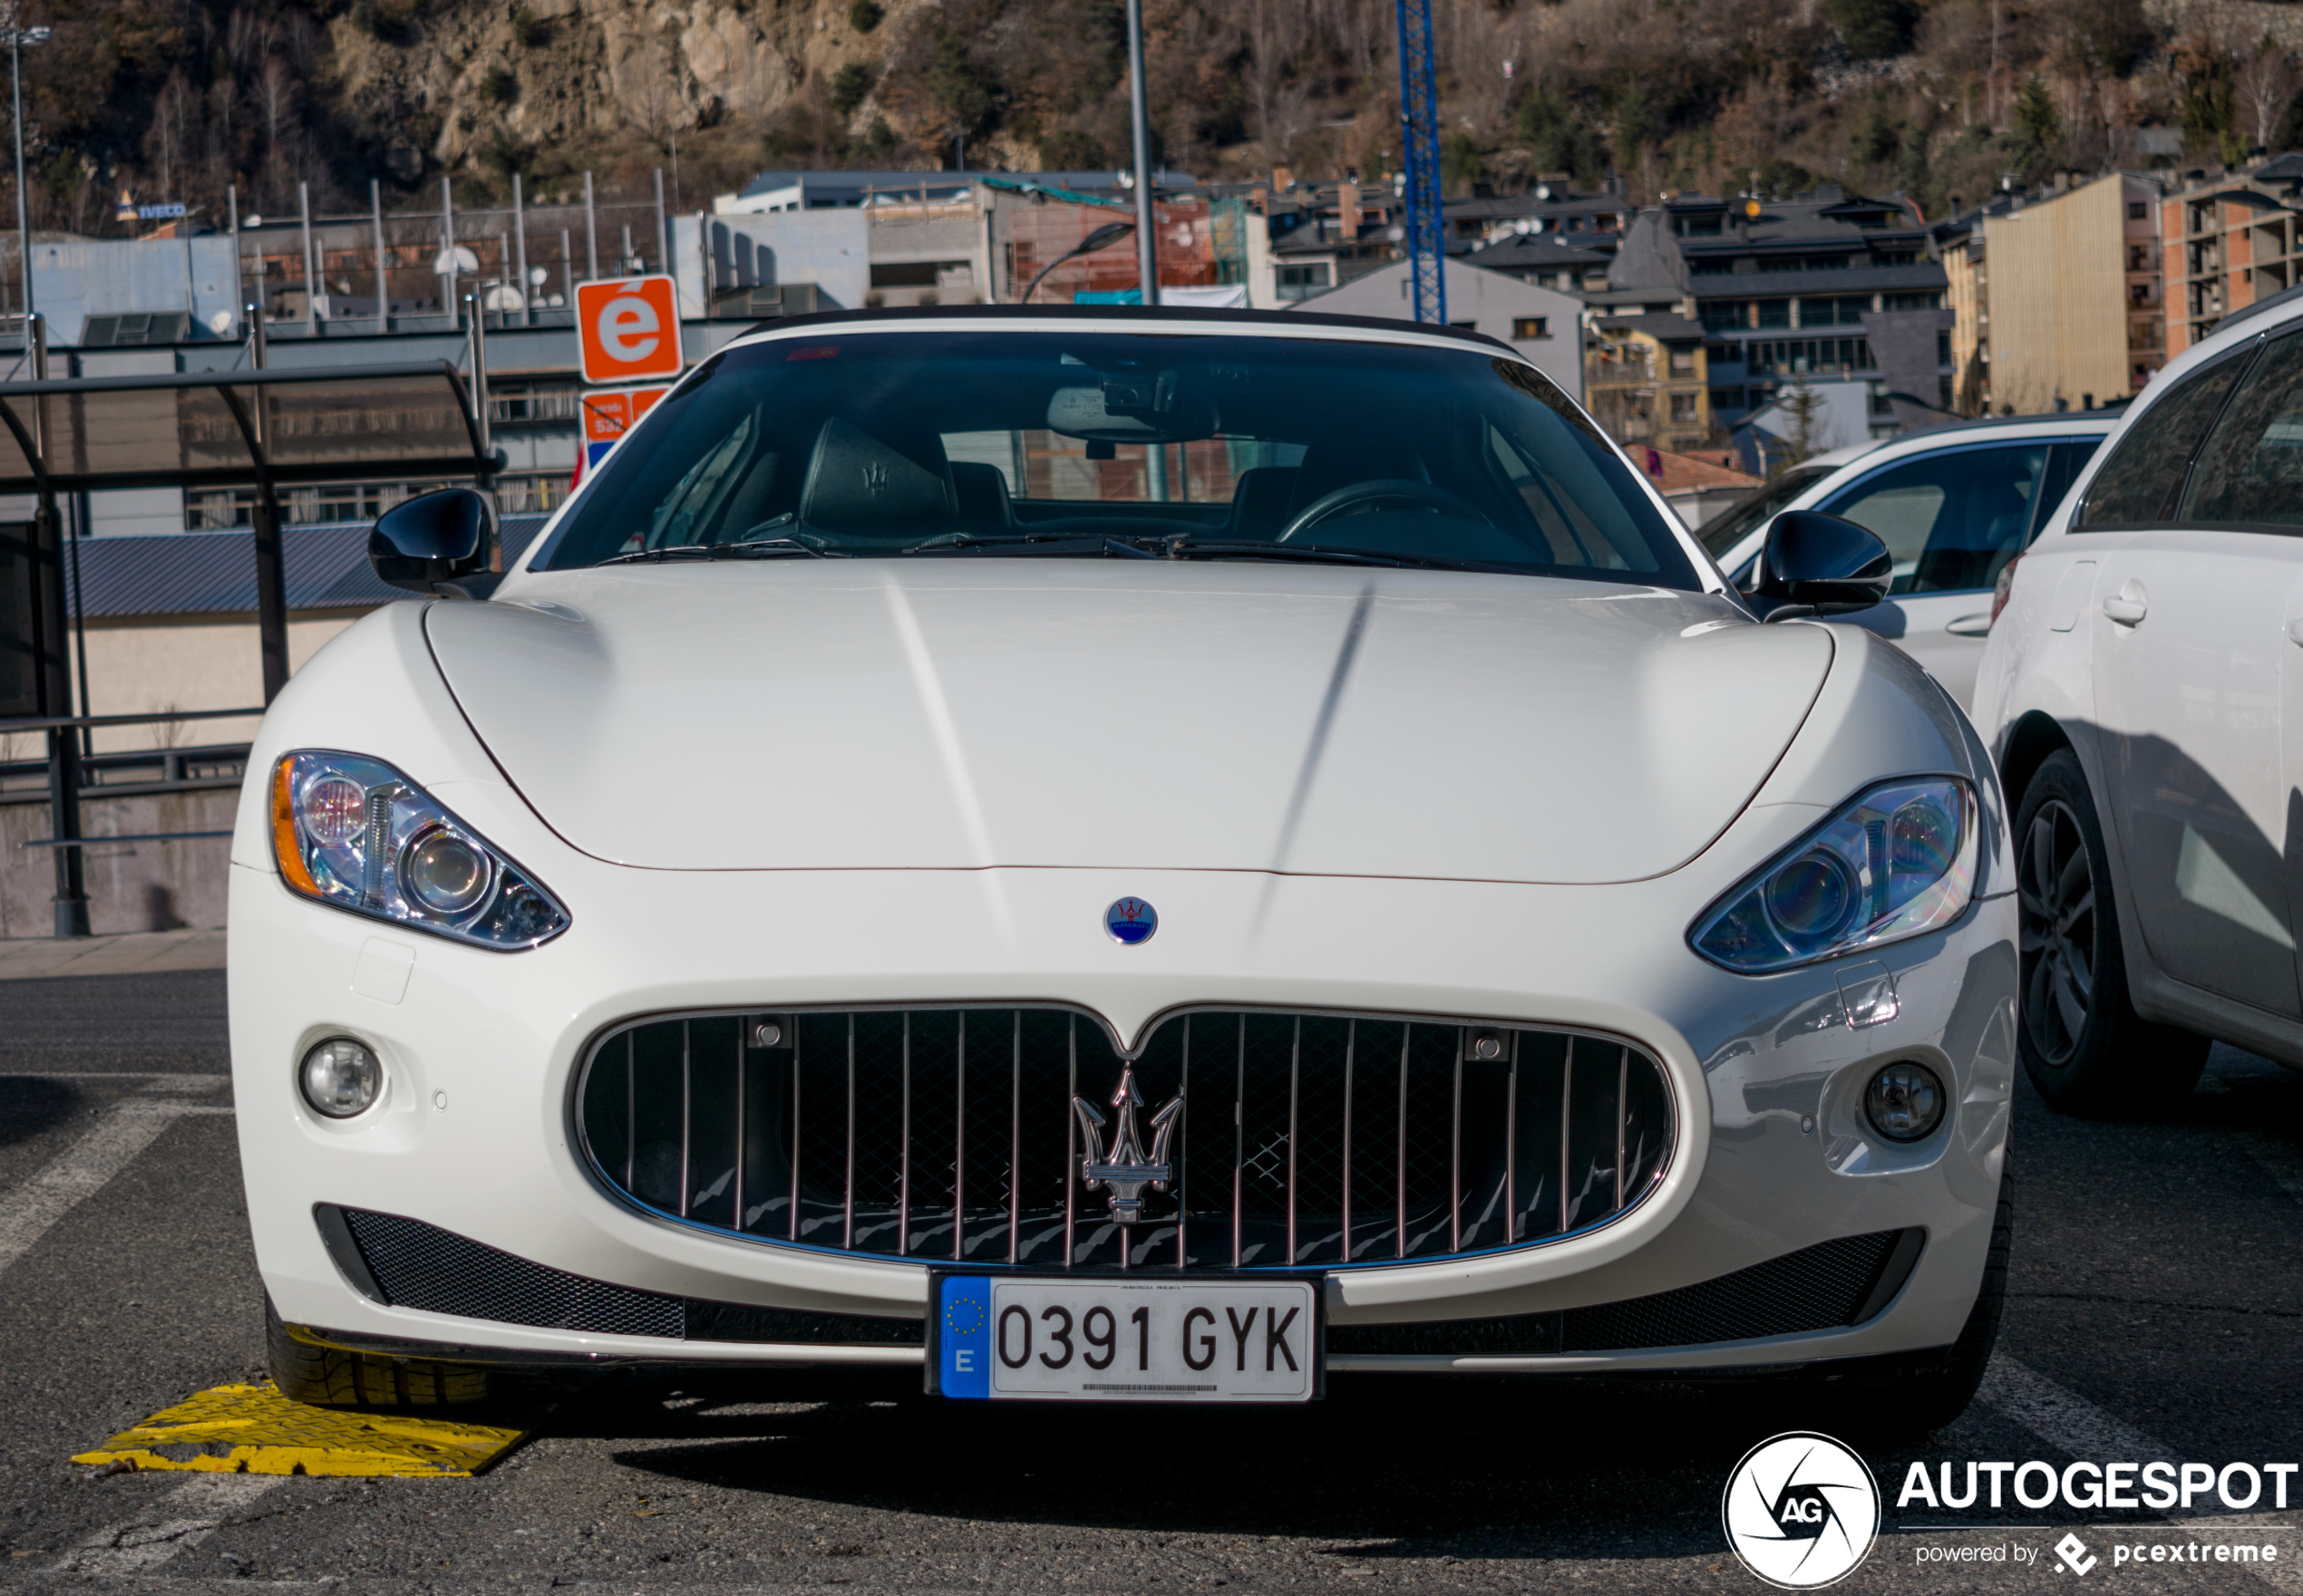
<svg viewBox="0 0 2303 1596">
<path fill-rule="evenodd" d="M 97 797 L 81 804 L 85 836 L 223 831 L 237 788 Z M 0 937 L 55 935 L 55 852 L 25 848 L 48 836 L 48 804 L 0 804 Z M 113 843 L 83 850 L 88 924 L 115 930 L 214 928 L 223 924 L 230 838 L 193 843 Z"/>
</svg>

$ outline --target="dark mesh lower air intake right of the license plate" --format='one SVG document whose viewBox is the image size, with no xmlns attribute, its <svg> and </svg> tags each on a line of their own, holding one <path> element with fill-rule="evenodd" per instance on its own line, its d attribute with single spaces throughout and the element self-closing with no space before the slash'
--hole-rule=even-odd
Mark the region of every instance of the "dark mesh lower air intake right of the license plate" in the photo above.
<svg viewBox="0 0 2303 1596">
<path fill-rule="evenodd" d="M 1918 1260 L 1914 1244 L 1898 1251 L 1902 1230 L 1840 1237 L 1654 1297 L 1520 1313 L 1499 1320 L 1442 1320 L 1430 1324 L 1336 1324 L 1329 1352 L 1361 1354 L 1531 1354 L 1637 1352 L 1700 1347 L 1720 1340 L 1799 1336 L 1856 1324 L 1877 1313 Z M 1898 1271 L 1898 1278 L 1886 1278 Z"/>
</svg>

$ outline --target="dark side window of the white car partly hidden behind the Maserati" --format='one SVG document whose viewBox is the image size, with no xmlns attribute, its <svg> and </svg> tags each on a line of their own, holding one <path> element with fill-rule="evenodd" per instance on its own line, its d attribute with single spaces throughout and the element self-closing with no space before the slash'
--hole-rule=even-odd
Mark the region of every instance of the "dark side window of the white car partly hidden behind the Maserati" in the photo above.
<svg viewBox="0 0 2303 1596">
<path fill-rule="evenodd" d="M 1958 449 L 1891 465 L 1819 504 L 1886 544 L 1893 592 L 1990 587 L 2024 546 L 2047 444 Z"/>
</svg>

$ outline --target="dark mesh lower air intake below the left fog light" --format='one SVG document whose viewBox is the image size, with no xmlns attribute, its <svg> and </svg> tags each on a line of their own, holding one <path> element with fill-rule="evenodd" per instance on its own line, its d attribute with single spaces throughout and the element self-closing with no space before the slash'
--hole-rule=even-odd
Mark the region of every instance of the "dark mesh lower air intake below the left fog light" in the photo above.
<svg viewBox="0 0 2303 1596">
<path fill-rule="evenodd" d="M 345 1209 L 343 1218 L 394 1308 L 594 1336 L 682 1336 L 686 1329 L 686 1306 L 677 1297 L 546 1269 L 396 1214 Z"/>
</svg>

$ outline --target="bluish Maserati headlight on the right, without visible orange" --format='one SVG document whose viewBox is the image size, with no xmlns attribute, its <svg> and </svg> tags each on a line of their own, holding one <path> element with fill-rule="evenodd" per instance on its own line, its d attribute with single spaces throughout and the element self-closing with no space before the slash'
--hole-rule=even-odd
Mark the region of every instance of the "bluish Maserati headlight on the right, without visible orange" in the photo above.
<svg viewBox="0 0 2303 1596">
<path fill-rule="evenodd" d="M 1704 910 L 1688 940 L 1743 974 L 1916 937 L 1967 910 L 1976 795 L 1955 776 L 1872 788 Z"/>
</svg>

